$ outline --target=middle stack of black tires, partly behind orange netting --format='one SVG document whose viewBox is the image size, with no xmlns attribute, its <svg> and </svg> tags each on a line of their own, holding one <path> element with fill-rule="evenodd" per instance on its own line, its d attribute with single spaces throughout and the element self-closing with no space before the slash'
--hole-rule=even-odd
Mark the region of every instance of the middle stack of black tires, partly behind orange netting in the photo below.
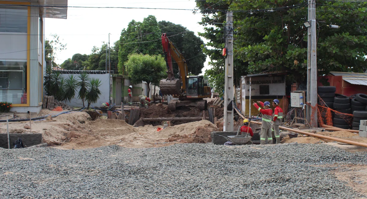
<svg viewBox="0 0 367 199">
<path fill-rule="evenodd" d="M 352 110 L 350 109 L 350 99 L 345 95 L 337 94 L 334 98 L 334 110 L 341 113 L 351 114 Z M 350 129 L 350 125 L 348 121 L 344 118 L 340 117 L 338 114 L 334 115 L 333 126 L 342 128 L 342 129 Z"/>
</svg>

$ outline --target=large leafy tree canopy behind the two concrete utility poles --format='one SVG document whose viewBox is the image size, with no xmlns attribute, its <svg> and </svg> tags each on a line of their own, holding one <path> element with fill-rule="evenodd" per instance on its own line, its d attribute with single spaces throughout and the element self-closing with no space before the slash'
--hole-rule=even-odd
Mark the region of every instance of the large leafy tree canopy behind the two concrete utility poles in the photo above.
<svg viewBox="0 0 367 199">
<path fill-rule="evenodd" d="M 224 82 L 224 60 L 220 51 L 224 48 L 226 31 L 223 31 L 224 23 L 218 24 L 225 22 L 224 10 L 242 10 L 233 13 L 237 76 L 288 71 L 296 82 L 306 80 L 308 37 L 303 23 L 308 18 L 305 1 L 210 0 L 196 3 L 204 14 L 201 24 L 205 32 L 200 35 L 210 40 L 207 45 L 211 47 L 204 49 L 213 66 L 206 74 L 216 88 L 221 90 L 220 82 Z M 367 3 L 322 1 L 322 4 L 316 4 L 318 75 L 330 71 L 363 72 L 367 54 L 364 24 Z M 208 7 L 210 10 L 206 10 Z M 330 29 L 329 24 L 337 24 L 340 28 Z"/>
</svg>

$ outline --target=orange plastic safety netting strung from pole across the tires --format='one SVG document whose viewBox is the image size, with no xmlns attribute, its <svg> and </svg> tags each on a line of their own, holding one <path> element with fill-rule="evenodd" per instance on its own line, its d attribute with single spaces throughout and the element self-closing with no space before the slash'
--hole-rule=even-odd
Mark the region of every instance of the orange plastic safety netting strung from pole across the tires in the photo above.
<svg viewBox="0 0 367 199">
<path fill-rule="evenodd" d="M 348 114 L 348 113 L 341 113 L 338 111 L 335 111 L 329 107 L 327 107 L 326 103 L 322 100 L 322 98 L 317 95 L 320 104 L 317 105 L 317 107 L 312 107 L 312 111 L 316 111 L 317 108 L 317 119 L 318 119 L 318 123 L 319 123 L 319 127 L 323 127 L 323 124 L 329 125 L 329 126 L 333 126 L 333 114 L 332 112 L 334 112 L 334 117 L 335 115 L 337 115 L 338 117 L 340 117 L 341 119 L 344 119 L 346 122 L 348 122 L 349 126 L 352 126 L 353 124 L 353 114 Z M 315 108 L 315 109 L 314 109 Z"/>
</svg>

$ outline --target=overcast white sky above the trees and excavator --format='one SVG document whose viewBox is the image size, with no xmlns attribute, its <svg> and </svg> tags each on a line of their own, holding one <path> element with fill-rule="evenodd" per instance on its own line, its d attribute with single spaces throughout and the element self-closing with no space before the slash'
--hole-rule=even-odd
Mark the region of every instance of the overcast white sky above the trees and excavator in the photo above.
<svg viewBox="0 0 367 199">
<path fill-rule="evenodd" d="M 68 6 L 87 7 L 141 7 L 141 8 L 179 8 L 194 9 L 195 0 L 69 0 Z M 181 24 L 187 29 L 195 32 L 204 32 L 203 26 L 199 25 L 201 14 L 193 14 L 192 11 L 185 10 L 151 10 L 151 9 L 123 9 L 123 8 L 68 8 L 68 19 L 47 18 L 46 39 L 52 39 L 50 35 L 57 34 L 63 43 L 66 43 L 66 50 L 57 52 L 57 64 L 62 64 L 65 59 L 71 58 L 74 54 L 90 54 L 93 46 L 101 47 L 102 42 L 108 42 L 110 35 L 110 45 L 120 39 L 123 28 L 127 28 L 128 23 L 143 21 L 148 15 L 154 15 L 157 21 L 170 21 Z M 198 36 L 198 35 L 197 35 Z M 207 40 L 203 39 L 204 43 Z M 189 59 L 189 57 L 186 57 Z M 204 64 L 204 69 L 208 69 L 208 61 Z"/>
</svg>

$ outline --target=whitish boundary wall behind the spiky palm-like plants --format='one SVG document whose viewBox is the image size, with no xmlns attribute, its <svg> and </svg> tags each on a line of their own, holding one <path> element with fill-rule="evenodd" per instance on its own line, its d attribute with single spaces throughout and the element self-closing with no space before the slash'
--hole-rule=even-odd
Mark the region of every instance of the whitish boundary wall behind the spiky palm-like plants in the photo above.
<svg viewBox="0 0 367 199">
<path fill-rule="evenodd" d="M 70 76 L 71 74 L 62 74 L 62 76 L 66 79 L 68 78 L 68 76 Z M 74 77 L 77 78 L 78 75 L 74 74 Z M 109 95 L 110 95 L 110 80 L 109 80 L 109 76 L 110 74 L 92 74 L 89 75 L 90 78 L 98 78 L 99 80 L 101 80 L 101 86 L 99 87 L 99 90 L 101 91 L 101 95 L 99 95 L 99 100 L 97 101 L 97 103 L 92 104 L 94 107 L 100 107 L 102 103 L 105 102 L 109 102 Z M 81 102 L 81 100 L 78 99 L 78 92 L 79 92 L 79 88 L 76 89 L 76 93 L 75 93 L 75 98 L 71 101 L 71 102 L 67 102 L 66 104 L 68 104 L 69 106 L 74 106 L 74 107 L 83 107 L 83 102 Z M 84 102 L 84 105 L 87 106 L 87 102 Z"/>
</svg>

